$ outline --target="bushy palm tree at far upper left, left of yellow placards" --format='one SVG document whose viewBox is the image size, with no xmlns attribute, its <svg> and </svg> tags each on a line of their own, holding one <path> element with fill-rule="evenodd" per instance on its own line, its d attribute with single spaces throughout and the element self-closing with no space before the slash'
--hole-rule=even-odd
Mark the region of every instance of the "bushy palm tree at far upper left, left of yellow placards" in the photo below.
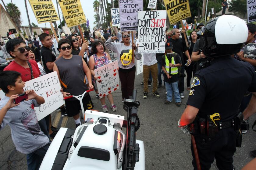
<svg viewBox="0 0 256 170">
<path fill-rule="evenodd" d="M 19 8 L 15 4 L 8 3 L 6 6 L 6 11 L 9 13 L 11 19 L 20 30 L 20 27 L 21 27 L 20 24 L 22 20 L 20 18 L 21 13 Z"/>
</svg>

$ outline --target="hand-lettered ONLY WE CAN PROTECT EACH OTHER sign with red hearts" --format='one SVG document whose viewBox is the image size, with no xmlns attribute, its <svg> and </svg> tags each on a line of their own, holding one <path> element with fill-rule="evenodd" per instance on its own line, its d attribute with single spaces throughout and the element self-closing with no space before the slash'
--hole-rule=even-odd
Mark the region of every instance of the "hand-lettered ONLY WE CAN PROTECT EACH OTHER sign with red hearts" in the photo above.
<svg viewBox="0 0 256 170">
<path fill-rule="evenodd" d="M 118 61 L 94 70 L 100 99 L 119 89 Z"/>
</svg>

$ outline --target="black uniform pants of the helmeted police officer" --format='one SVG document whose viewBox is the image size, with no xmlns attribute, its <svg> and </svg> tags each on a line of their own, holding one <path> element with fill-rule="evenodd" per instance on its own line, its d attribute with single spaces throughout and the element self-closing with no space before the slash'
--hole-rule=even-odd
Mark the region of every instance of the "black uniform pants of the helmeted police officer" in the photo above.
<svg viewBox="0 0 256 170">
<path fill-rule="evenodd" d="M 236 151 L 237 136 L 233 127 L 220 130 L 215 138 L 209 139 L 205 135 L 195 136 L 201 169 L 209 170 L 215 158 L 219 170 L 233 170 L 232 157 Z M 192 164 L 197 170 L 192 143 L 191 151 L 194 158 Z"/>
</svg>

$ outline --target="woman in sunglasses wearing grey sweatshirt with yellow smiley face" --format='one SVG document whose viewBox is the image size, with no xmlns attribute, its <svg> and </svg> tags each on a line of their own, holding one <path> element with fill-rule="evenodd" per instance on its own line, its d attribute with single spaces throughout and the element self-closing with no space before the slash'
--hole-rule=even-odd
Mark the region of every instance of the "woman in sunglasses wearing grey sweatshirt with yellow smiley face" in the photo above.
<svg viewBox="0 0 256 170">
<path fill-rule="evenodd" d="M 134 57 L 137 60 L 141 59 L 141 54 L 138 53 L 138 48 L 133 43 L 131 44 L 130 35 L 124 32 L 122 35 L 122 42 L 114 43 L 113 39 L 117 39 L 116 36 L 109 37 L 105 42 L 107 49 L 113 50 L 118 56 L 118 66 L 119 66 L 119 78 L 121 81 L 121 90 L 123 100 L 129 99 L 133 93 L 134 79 L 135 79 L 135 63 L 132 62 L 132 49 L 135 50 Z M 119 57 L 120 56 L 120 57 Z"/>
</svg>

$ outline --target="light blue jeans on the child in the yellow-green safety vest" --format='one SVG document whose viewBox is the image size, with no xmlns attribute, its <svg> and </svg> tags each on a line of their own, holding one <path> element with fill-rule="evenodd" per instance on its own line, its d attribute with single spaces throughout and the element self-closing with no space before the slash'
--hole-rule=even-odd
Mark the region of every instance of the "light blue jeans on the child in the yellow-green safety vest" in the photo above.
<svg viewBox="0 0 256 170">
<path fill-rule="evenodd" d="M 174 92 L 175 103 L 180 102 L 180 93 L 178 88 L 178 81 L 173 83 L 165 82 L 165 90 L 167 91 L 167 100 L 172 102 L 172 90 Z"/>
</svg>

